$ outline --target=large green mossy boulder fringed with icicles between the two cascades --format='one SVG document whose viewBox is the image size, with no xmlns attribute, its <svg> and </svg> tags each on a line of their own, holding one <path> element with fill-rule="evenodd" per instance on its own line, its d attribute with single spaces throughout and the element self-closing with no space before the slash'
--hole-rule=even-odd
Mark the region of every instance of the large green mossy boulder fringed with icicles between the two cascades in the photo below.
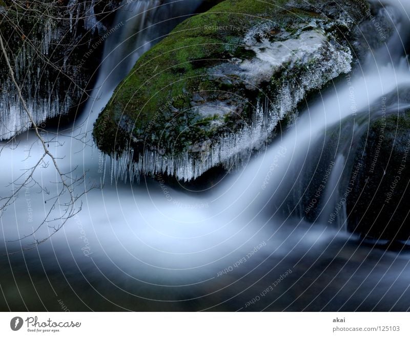
<svg viewBox="0 0 410 337">
<path fill-rule="evenodd" d="M 355 1 L 226 0 L 144 54 L 94 125 L 134 173 L 190 180 L 231 167 L 291 122 L 306 94 L 351 70 Z"/>
</svg>

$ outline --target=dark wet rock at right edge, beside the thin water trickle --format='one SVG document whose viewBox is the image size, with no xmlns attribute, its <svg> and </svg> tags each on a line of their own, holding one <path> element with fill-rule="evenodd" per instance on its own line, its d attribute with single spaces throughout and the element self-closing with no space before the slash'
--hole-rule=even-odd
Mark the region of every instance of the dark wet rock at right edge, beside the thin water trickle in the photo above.
<svg viewBox="0 0 410 337">
<path fill-rule="evenodd" d="M 392 102 L 395 102 L 392 107 Z M 397 105 L 400 102 L 402 108 Z M 382 98 L 357 149 L 347 199 L 348 229 L 364 237 L 408 240 L 410 87 Z M 390 108 L 389 108 L 390 106 Z"/>
</svg>

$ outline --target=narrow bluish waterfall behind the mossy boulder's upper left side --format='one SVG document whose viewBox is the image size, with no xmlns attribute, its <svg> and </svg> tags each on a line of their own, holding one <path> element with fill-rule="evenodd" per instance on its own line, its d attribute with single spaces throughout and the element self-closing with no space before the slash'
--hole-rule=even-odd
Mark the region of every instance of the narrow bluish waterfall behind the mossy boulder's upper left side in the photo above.
<svg viewBox="0 0 410 337">
<path fill-rule="evenodd" d="M 180 21 L 192 15 L 202 0 L 122 0 L 113 29 L 104 42 L 95 89 L 85 114 L 75 127 L 79 133 L 91 133 L 92 124 L 108 103 L 115 87 L 124 79 L 137 59 L 164 38 Z M 82 124 L 86 124 L 86 128 Z M 87 131 L 88 130 L 88 131 Z"/>
</svg>

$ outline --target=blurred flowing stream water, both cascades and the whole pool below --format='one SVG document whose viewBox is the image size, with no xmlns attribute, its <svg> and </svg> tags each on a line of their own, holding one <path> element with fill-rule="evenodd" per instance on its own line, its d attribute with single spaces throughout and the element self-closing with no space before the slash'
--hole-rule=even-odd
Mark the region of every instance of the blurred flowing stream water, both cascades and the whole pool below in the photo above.
<svg viewBox="0 0 410 337">
<path fill-rule="evenodd" d="M 372 51 L 349 81 L 327 87 L 294 126 L 210 191 L 187 193 L 149 178 L 140 184 L 109 183 L 110 162 L 103 164 L 91 143 L 97 114 L 135 60 L 178 21 L 168 18 L 182 19 L 199 4 L 136 1 L 119 11 L 116 20 L 124 27 L 106 41 L 92 95 L 98 99 L 89 101 L 70 131 L 59 134 L 64 144 L 52 147 L 56 156 L 64 156 L 59 160 L 63 171 L 86 172 L 85 186 L 103 181 L 105 186 L 89 191 L 81 212 L 50 240 L 24 252 L 19 250 L 32 237 L 8 241 L 33 231 L 48 210 L 48 196 L 30 186 L 8 208 L 1 217 L 2 251 L 17 253 L 0 257 L 0 308 L 409 309 L 410 255 L 359 244 L 345 231 L 343 209 L 334 224 L 326 221 L 339 202 L 344 168 L 354 152 L 349 136 L 360 127 L 341 135 L 331 153 L 326 134 L 345 118 L 370 119 L 370 107 L 381 97 L 410 85 L 402 45 L 406 17 L 398 18 L 396 36 Z M 67 137 L 71 134 L 77 137 Z M 1 153 L 8 163 L 0 168 L 2 186 L 38 158 L 40 147 L 29 147 L 33 141 L 30 133 L 20 136 L 18 148 Z M 313 176 L 310 170 L 323 158 L 331 172 L 324 204 L 311 223 L 300 201 Z M 52 167 L 40 168 L 36 178 L 56 192 L 49 182 L 56 180 Z M 49 233 L 43 226 L 36 237 Z"/>
</svg>

